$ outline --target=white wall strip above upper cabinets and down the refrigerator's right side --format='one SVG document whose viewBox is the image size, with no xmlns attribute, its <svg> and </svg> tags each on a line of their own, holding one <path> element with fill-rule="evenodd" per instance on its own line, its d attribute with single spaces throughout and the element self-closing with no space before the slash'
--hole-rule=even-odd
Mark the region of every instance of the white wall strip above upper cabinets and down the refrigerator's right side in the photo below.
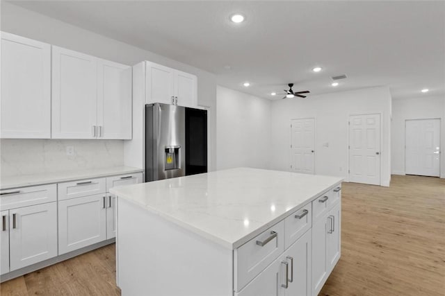
<svg viewBox="0 0 445 296">
<path fill-rule="evenodd" d="M 198 104 L 209 107 L 209 170 L 216 168 L 216 77 L 207 71 L 191 67 L 187 64 L 170 60 L 136 46 L 118 42 L 108 37 L 86 31 L 57 19 L 1 1 L 1 31 L 22 35 L 49 44 L 80 51 L 99 58 L 137 64 L 149 60 L 165 66 L 193 73 L 198 80 Z M 149 38 L 149 36 L 147 36 Z M 3 140 L 8 146 L 9 140 Z M 30 143 L 27 141 L 26 143 Z M 123 141 L 119 141 L 123 146 Z M 37 142 L 35 145 L 39 145 Z M 40 155 L 38 155 L 40 157 Z M 122 156 L 123 157 L 123 156 Z"/>
</svg>

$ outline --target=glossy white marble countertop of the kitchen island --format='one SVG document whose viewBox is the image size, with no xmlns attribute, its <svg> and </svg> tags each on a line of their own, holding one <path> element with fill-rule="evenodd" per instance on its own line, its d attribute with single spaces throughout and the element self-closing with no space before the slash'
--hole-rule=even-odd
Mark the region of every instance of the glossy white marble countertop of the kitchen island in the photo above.
<svg viewBox="0 0 445 296">
<path fill-rule="evenodd" d="M 110 191 L 233 250 L 341 181 L 323 175 L 234 168 Z"/>
</svg>

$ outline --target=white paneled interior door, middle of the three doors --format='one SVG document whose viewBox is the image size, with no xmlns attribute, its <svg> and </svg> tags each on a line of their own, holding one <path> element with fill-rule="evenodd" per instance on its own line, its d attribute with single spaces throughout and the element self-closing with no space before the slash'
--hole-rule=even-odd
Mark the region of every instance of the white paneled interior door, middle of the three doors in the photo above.
<svg viewBox="0 0 445 296">
<path fill-rule="evenodd" d="M 349 117 L 349 181 L 380 185 L 380 114 Z"/>
</svg>

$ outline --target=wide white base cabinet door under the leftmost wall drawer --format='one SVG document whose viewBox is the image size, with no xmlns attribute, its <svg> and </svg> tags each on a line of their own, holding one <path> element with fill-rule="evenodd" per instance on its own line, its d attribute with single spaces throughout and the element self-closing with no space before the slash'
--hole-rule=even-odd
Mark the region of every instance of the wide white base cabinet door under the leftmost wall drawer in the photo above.
<svg viewBox="0 0 445 296">
<path fill-rule="evenodd" d="M 10 271 L 57 256 L 57 204 L 9 211 Z"/>
</svg>

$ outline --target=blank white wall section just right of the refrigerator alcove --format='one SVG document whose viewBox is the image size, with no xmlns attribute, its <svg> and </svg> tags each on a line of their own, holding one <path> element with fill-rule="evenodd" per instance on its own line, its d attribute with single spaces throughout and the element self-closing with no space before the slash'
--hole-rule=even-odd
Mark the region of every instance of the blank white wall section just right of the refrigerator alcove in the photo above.
<svg viewBox="0 0 445 296">
<path fill-rule="evenodd" d="M 216 88 L 217 169 L 270 167 L 271 101 Z"/>
</svg>

